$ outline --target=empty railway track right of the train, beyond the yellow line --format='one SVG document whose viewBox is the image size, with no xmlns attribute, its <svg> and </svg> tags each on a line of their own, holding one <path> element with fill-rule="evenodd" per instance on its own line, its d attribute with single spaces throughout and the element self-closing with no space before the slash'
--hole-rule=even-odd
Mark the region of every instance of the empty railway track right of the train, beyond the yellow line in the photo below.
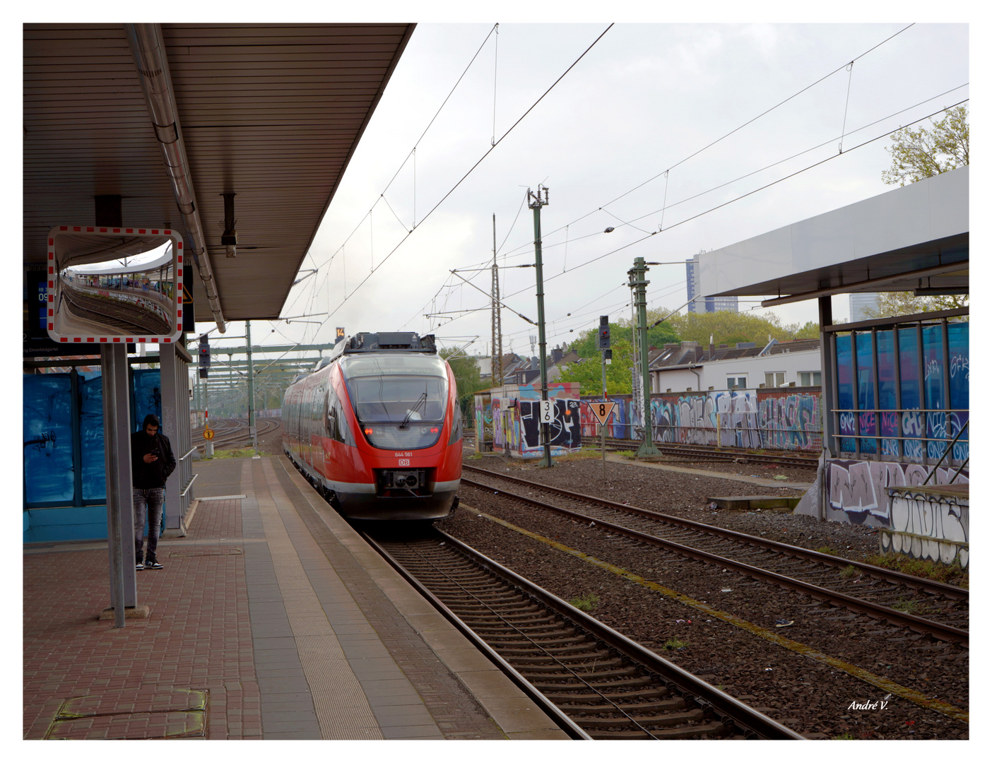
<svg viewBox="0 0 992 763">
<path fill-rule="evenodd" d="M 968 591 L 964 588 L 474 466 L 462 468 L 479 478 L 462 476 L 462 484 L 496 491 L 583 522 L 594 522 L 602 530 L 648 543 L 663 553 L 720 565 L 762 582 L 805 593 L 834 607 L 885 620 L 942 641 L 968 644 Z M 507 489 L 508 485 L 514 489 Z M 913 602 L 913 607 L 908 602 Z M 908 611 L 910 608 L 927 616 L 913 614 Z"/>
</svg>

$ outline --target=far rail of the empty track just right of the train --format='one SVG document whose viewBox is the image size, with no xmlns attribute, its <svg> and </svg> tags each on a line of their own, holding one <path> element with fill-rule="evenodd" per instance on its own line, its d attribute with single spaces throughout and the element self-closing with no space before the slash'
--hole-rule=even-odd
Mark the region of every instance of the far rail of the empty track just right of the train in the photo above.
<svg viewBox="0 0 992 763">
<path fill-rule="evenodd" d="M 658 520 L 660 522 L 665 522 L 667 524 L 678 525 L 686 530 L 694 530 L 696 532 L 706 533 L 707 535 L 713 535 L 718 537 L 727 538 L 729 540 L 738 541 L 742 543 L 747 543 L 752 546 L 757 546 L 762 549 L 767 549 L 769 551 L 777 551 L 782 554 L 788 554 L 793 557 L 800 557 L 803 559 L 820 562 L 824 565 L 829 565 L 830 567 L 835 567 L 838 569 L 843 569 L 845 567 L 851 566 L 857 568 L 858 570 L 863 570 L 873 576 L 880 577 L 889 582 L 894 582 L 902 585 L 909 585 L 920 590 L 925 590 L 928 593 L 933 593 L 934 595 L 946 596 L 947 598 L 954 599 L 957 601 L 968 601 L 969 591 L 967 588 L 961 588 L 957 585 L 950 585 L 944 582 L 938 582 L 937 580 L 930 580 L 926 577 L 918 577 L 913 574 L 907 574 L 905 572 L 896 572 L 894 570 L 886 570 L 882 567 L 876 567 L 875 565 L 868 565 L 864 562 L 856 562 L 841 557 L 834 557 L 829 554 L 823 554 L 818 551 L 810 551 L 808 549 L 801 548 L 799 546 L 792 546 L 788 543 L 782 543 L 780 541 L 773 541 L 768 538 L 761 538 L 755 535 L 748 535 L 747 533 L 741 533 L 737 530 L 727 530 L 726 528 L 716 527 L 715 525 L 707 525 L 704 522 L 696 522 L 691 519 L 684 519 L 682 517 L 677 517 L 672 514 L 663 514 L 658 511 L 652 511 L 650 509 L 642 509 L 637 506 L 631 506 L 626 503 L 618 503 L 616 501 L 611 501 L 608 498 L 596 498 L 595 496 L 585 495 L 583 493 L 576 493 L 571 490 L 565 490 L 562 487 L 554 487 L 552 485 L 545 485 L 540 482 L 531 482 L 526 479 L 521 479 L 520 477 L 514 477 L 509 474 L 498 474 L 488 469 L 482 469 L 478 466 L 470 466 L 468 464 L 462 464 L 461 468 L 468 469 L 470 471 L 476 471 L 481 474 L 487 474 L 495 479 L 505 479 L 510 482 L 516 482 L 517 484 L 526 485 L 528 487 L 534 487 L 540 490 L 547 490 L 549 492 L 558 493 L 559 495 L 567 496 L 568 498 L 573 498 L 575 500 L 589 501 L 590 503 L 599 504 L 601 506 L 607 506 L 611 509 L 616 509 L 617 511 L 623 511 L 628 514 L 637 514 L 639 516 L 647 517 L 649 519 Z M 462 482 L 468 484 L 473 484 L 472 480 L 462 478 Z M 478 484 L 478 483 L 475 483 Z M 483 485 L 484 487 L 489 487 L 488 485 Z"/>
</svg>

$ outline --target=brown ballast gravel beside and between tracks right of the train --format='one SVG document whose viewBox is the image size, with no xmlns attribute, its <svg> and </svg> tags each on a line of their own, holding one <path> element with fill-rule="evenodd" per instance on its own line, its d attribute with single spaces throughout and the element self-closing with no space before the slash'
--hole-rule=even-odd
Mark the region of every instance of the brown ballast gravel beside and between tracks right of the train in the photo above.
<svg viewBox="0 0 992 763">
<path fill-rule="evenodd" d="M 607 463 L 604 484 L 602 465 L 595 459 L 562 460 L 551 469 L 494 456 L 466 463 L 808 549 L 830 546 L 838 556 L 852 560 L 878 549 L 877 536 L 870 529 L 774 511 L 714 512 L 706 502 L 713 495 L 800 494 L 785 487 L 616 462 Z M 466 472 L 466 476 L 470 474 Z M 808 473 L 804 481 L 811 481 L 812 476 Z M 459 496 L 467 507 L 499 516 L 764 628 L 774 630 L 776 620 L 793 620 L 792 626 L 779 631 L 782 635 L 928 698 L 962 709 L 968 706 L 967 649 L 816 603 L 801 594 L 772 590 L 732 572 L 663 557 L 644 546 L 608 538 L 595 528 L 539 509 L 519 503 L 511 507 L 487 490 L 463 485 Z M 707 618 L 668 596 L 479 518 L 469 508 L 460 508 L 436 526 L 566 600 L 595 594 L 598 601 L 591 611 L 593 616 L 685 670 L 708 677 L 711 684 L 723 687 L 737 699 L 765 708 L 776 720 L 808 736 L 968 736 L 965 722 L 908 699 L 884 699 L 887 693 L 875 686 L 722 620 Z M 731 590 L 724 592 L 725 587 Z M 878 701 L 879 705 L 874 709 L 852 708 L 854 701 Z M 887 702 L 884 707 L 883 701 Z"/>
</svg>

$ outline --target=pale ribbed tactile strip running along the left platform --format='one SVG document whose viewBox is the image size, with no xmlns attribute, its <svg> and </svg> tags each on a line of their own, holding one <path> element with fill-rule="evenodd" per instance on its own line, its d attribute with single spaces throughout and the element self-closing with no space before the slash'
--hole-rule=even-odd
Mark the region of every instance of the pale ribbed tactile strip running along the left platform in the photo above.
<svg viewBox="0 0 992 763">
<path fill-rule="evenodd" d="M 275 501 L 264 492 L 257 498 L 276 580 L 310 685 L 320 736 L 382 739 L 372 707 L 323 614 Z"/>
</svg>

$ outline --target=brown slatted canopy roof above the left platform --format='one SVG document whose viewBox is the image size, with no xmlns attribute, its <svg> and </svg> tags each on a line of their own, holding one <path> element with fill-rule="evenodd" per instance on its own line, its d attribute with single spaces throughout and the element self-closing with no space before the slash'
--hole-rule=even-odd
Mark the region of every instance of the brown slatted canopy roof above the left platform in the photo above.
<svg viewBox="0 0 992 763">
<path fill-rule="evenodd" d="M 278 318 L 414 25 L 135 26 L 163 42 L 161 70 L 138 64 L 122 24 L 24 25 L 25 264 L 45 263 L 51 227 L 93 225 L 97 196 L 195 252 L 163 148 L 178 135 L 216 294 L 211 310 L 196 279 L 196 319 Z M 172 98 L 176 132 L 153 124 L 149 88 Z M 236 257 L 222 193 L 236 194 Z"/>
</svg>

